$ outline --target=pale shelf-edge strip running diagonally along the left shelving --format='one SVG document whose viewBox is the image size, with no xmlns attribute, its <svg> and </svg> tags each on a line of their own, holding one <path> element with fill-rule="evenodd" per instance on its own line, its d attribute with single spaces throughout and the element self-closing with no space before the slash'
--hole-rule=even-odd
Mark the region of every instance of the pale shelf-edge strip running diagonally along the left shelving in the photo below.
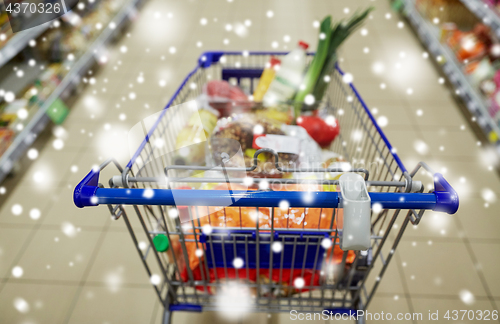
<svg viewBox="0 0 500 324">
<path fill-rule="evenodd" d="M 12 144 L 0 157 L 0 183 L 11 172 L 15 163 L 25 154 L 26 150 L 31 146 L 38 134 L 49 123 L 49 117 L 46 112 L 52 103 L 61 97 L 67 89 L 77 84 L 80 77 L 85 73 L 86 69 L 93 64 L 94 56 L 99 54 L 99 50 L 104 47 L 119 29 L 119 27 L 131 15 L 135 7 L 143 0 L 128 0 L 122 9 L 110 21 L 110 24 L 97 36 L 93 43 L 87 48 L 87 51 L 73 64 L 68 74 L 64 77 L 57 88 L 50 94 L 37 112 L 30 119 L 24 129 L 16 135 Z M 111 22 L 114 23 L 111 26 Z M 31 39 L 31 38 L 30 38 Z M 29 40 L 28 40 L 29 41 Z"/>
</svg>

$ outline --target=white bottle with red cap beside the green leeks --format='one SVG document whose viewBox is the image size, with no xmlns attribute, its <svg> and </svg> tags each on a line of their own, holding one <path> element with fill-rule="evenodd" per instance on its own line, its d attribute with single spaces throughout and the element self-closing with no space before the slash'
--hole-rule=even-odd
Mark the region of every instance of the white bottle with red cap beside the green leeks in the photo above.
<svg viewBox="0 0 500 324">
<path fill-rule="evenodd" d="M 297 48 L 283 57 L 280 68 L 264 95 L 265 107 L 272 107 L 292 99 L 304 77 L 308 47 L 307 43 L 301 41 Z"/>
</svg>

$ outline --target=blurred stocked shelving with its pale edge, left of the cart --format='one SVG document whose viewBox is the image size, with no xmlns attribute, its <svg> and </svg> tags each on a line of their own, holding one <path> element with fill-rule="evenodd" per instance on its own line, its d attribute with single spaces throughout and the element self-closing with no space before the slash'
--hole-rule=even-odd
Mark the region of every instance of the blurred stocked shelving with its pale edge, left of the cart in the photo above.
<svg viewBox="0 0 500 324">
<path fill-rule="evenodd" d="M 81 2 L 50 23 L 13 34 L 0 19 L 0 182 L 49 123 L 107 61 L 106 45 L 136 16 L 142 0 Z"/>
</svg>

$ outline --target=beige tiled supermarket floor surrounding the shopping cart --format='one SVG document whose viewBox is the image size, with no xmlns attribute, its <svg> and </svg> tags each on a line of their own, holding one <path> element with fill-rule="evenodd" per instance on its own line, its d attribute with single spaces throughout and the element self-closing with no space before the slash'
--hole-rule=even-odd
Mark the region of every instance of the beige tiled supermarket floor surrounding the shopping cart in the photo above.
<svg viewBox="0 0 500 324">
<path fill-rule="evenodd" d="M 412 168 L 427 161 L 445 173 L 461 198 L 457 215 L 428 213 L 418 227 L 408 228 L 370 311 L 425 316 L 429 310 L 498 309 L 500 207 L 482 193 L 499 196 L 499 178 L 489 170 L 488 154 L 476 144 L 453 94 L 438 82 L 409 27 L 398 27 L 401 19 L 387 0 L 149 0 L 130 34 L 109 48 L 109 63 L 95 84 L 72 107 L 63 125 L 65 147 L 55 150 L 52 138 L 26 173 L 10 180 L 16 185 L 0 206 L 0 322 L 160 323 L 161 307 L 125 225 L 111 221 L 105 207 L 74 207 L 72 188 L 110 156 L 126 162 L 124 132 L 165 105 L 201 51 L 271 50 L 274 41 L 278 49 L 290 49 L 299 39 L 314 43 L 314 20 L 327 13 L 341 18 L 344 8 L 352 13 L 368 5 L 376 7 L 366 24 L 368 36 L 357 32 L 349 39 L 342 67 L 353 74 L 376 117 L 388 117 L 384 130 L 405 164 Z M 245 19 L 252 22 L 246 37 L 224 28 Z M 374 71 L 376 63 L 383 72 Z M 137 82 L 140 74 L 144 83 Z M 135 100 L 129 99 L 131 92 Z M 43 181 L 35 181 L 40 175 Z M 11 212 L 15 204 L 22 206 L 20 215 Z M 39 219 L 30 217 L 33 208 L 41 212 Z M 12 275 L 16 266 L 23 269 L 21 277 Z M 198 321 L 220 319 L 211 313 L 174 315 L 176 323 Z M 256 314 L 243 322 L 290 320 L 286 314 Z"/>
</svg>

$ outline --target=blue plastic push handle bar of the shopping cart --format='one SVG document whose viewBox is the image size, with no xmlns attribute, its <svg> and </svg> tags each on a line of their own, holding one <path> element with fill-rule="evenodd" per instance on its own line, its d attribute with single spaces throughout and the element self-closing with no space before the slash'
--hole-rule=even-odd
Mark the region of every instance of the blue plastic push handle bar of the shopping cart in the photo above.
<svg viewBox="0 0 500 324">
<path fill-rule="evenodd" d="M 167 206 L 227 206 L 279 207 L 283 200 L 290 207 L 337 208 L 339 192 L 327 191 L 241 191 L 183 189 L 122 189 L 99 188 L 99 171 L 92 170 L 76 186 L 73 200 L 77 207 L 106 205 L 167 205 Z M 454 214 L 458 210 L 458 195 L 439 173 L 434 176 L 433 193 L 369 193 L 372 205 L 387 209 L 431 209 Z M 228 206 L 229 207 L 229 206 Z"/>
</svg>

